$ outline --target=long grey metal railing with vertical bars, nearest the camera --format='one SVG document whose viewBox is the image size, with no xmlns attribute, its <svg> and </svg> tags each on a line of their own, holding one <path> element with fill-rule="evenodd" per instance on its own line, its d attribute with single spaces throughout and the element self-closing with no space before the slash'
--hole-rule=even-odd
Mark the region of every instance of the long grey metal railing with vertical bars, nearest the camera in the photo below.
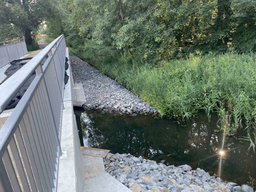
<svg viewBox="0 0 256 192">
<path fill-rule="evenodd" d="M 0 86 L 1 113 L 36 71 L 0 129 L 0 191 L 57 189 L 65 59 L 61 35 Z"/>
</svg>

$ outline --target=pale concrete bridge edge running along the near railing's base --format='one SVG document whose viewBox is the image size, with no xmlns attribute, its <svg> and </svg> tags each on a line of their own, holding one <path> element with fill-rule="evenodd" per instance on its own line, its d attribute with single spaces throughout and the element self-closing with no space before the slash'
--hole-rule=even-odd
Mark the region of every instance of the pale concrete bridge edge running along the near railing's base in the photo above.
<svg viewBox="0 0 256 192">
<path fill-rule="evenodd" d="M 69 59 L 68 48 L 66 56 Z M 62 155 L 59 160 L 57 191 L 83 191 L 84 189 L 84 165 L 82 151 L 80 149 L 77 134 L 76 118 L 73 110 L 73 77 L 70 61 L 67 75 L 68 83 L 63 95 L 63 111 L 61 125 L 60 146 Z"/>
</svg>

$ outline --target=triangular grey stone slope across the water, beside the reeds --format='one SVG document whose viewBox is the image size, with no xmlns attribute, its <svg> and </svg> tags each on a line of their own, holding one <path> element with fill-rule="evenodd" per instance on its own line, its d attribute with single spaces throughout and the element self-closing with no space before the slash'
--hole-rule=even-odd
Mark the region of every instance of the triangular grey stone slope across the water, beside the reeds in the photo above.
<svg viewBox="0 0 256 192">
<path fill-rule="evenodd" d="M 141 100 L 113 79 L 100 73 L 76 55 L 69 55 L 75 83 L 82 83 L 85 109 L 120 114 L 158 114 L 158 110 Z"/>
</svg>

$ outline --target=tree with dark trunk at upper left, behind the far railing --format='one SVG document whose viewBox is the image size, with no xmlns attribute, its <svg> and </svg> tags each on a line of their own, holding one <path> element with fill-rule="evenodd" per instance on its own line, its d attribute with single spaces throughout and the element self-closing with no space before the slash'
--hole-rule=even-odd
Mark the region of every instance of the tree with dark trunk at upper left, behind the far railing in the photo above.
<svg viewBox="0 0 256 192">
<path fill-rule="evenodd" d="M 0 0 L 0 38 L 25 36 L 26 43 L 31 44 L 31 32 L 55 17 L 56 8 L 51 0 Z"/>
</svg>

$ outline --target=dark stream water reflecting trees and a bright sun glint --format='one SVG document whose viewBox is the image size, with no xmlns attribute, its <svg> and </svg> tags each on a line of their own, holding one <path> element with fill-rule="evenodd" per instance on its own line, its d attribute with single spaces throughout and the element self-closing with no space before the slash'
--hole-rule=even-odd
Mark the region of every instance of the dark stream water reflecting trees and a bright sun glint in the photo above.
<svg viewBox="0 0 256 192">
<path fill-rule="evenodd" d="M 85 144 L 110 149 L 112 153 L 130 153 L 165 164 L 189 164 L 210 174 L 218 174 L 222 156 L 221 178 L 255 188 L 255 154 L 247 151 L 249 143 L 236 137 L 226 137 L 217 129 L 216 116 L 201 114 L 185 125 L 171 119 L 156 119 L 138 115 L 115 116 L 98 111 L 86 111 L 81 116 Z M 241 133 L 239 133 L 241 135 Z M 222 153 L 222 152 L 221 152 Z"/>
</svg>

